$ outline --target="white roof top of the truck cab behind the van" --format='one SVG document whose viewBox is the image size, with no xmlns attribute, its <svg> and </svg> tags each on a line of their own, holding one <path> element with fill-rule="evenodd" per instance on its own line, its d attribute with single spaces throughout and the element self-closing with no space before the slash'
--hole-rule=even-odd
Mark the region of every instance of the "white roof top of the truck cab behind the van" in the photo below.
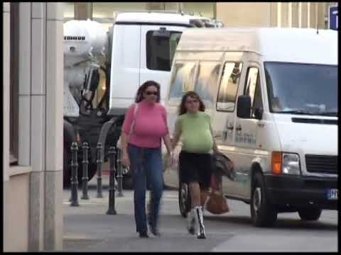
<svg viewBox="0 0 341 255">
<path fill-rule="evenodd" d="M 176 12 L 166 11 L 131 11 L 121 12 L 117 14 L 115 22 L 136 22 L 136 23 L 174 23 L 174 24 L 186 24 L 190 23 L 190 20 L 200 19 L 209 21 L 209 18 L 200 16 L 191 16 L 188 14 L 181 14 Z"/>
</svg>

